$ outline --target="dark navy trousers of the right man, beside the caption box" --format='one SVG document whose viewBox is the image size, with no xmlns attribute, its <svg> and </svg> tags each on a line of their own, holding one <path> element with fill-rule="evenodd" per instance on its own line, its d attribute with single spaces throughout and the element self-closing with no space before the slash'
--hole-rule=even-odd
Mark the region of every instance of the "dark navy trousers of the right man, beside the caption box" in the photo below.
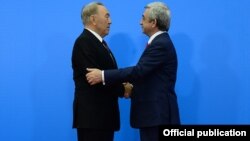
<svg viewBox="0 0 250 141">
<path fill-rule="evenodd" d="M 159 126 L 140 128 L 141 141 L 159 141 Z"/>
</svg>

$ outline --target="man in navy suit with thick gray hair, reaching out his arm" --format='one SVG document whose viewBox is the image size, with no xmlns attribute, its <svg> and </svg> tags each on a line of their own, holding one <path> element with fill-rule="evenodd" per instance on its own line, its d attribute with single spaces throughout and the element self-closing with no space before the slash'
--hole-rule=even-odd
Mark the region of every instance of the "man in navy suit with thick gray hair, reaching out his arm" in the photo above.
<svg viewBox="0 0 250 141">
<path fill-rule="evenodd" d="M 175 93 L 177 55 L 168 34 L 168 7 L 161 2 L 148 4 L 140 24 L 150 38 L 136 66 L 104 71 L 88 69 L 86 77 L 91 85 L 102 81 L 106 85 L 131 82 L 134 86 L 131 126 L 140 129 L 141 141 L 157 141 L 159 126 L 180 124 Z"/>
</svg>

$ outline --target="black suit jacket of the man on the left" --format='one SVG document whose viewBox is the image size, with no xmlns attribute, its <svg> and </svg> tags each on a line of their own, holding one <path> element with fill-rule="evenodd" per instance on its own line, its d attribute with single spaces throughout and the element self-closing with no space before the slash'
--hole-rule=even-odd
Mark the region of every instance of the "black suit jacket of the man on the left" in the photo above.
<svg viewBox="0 0 250 141">
<path fill-rule="evenodd" d="M 86 68 L 117 69 L 117 65 L 103 44 L 86 29 L 75 41 L 72 68 L 75 83 L 73 128 L 119 130 L 118 96 L 124 94 L 123 85 L 90 86 L 85 76 Z"/>
</svg>

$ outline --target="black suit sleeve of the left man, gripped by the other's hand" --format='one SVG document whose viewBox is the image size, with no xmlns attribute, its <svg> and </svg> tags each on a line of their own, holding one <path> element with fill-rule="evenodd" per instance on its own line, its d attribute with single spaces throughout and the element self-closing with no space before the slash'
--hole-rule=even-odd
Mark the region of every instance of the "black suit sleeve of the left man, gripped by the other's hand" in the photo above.
<svg viewBox="0 0 250 141">
<path fill-rule="evenodd" d="M 94 49 L 91 43 L 80 40 L 75 42 L 72 54 L 72 67 L 74 68 L 74 80 L 78 88 L 83 87 L 83 85 L 89 86 L 85 77 L 87 73 L 86 68 L 103 68 L 100 61 L 98 61 L 100 60 L 99 57 L 100 56 L 98 55 L 97 50 Z M 90 87 L 96 87 L 103 91 L 109 91 L 109 94 L 119 97 L 123 97 L 124 95 L 124 87 L 121 83 L 112 85 L 102 85 L 102 83 L 100 83 Z"/>
</svg>

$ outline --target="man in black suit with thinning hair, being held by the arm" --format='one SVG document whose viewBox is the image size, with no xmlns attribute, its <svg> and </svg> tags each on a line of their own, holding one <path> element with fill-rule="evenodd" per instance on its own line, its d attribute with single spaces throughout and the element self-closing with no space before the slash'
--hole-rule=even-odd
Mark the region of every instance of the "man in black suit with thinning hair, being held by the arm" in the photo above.
<svg viewBox="0 0 250 141">
<path fill-rule="evenodd" d="M 83 7 L 81 18 L 85 29 L 76 39 L 72 53 L 73 128 L 77 128 L 78 141 L 113 141 L 114 131 L 120 128 L 118 96 L 124 95 L 124 86 L 91 86 L 85 77 L 87 67 L 117 69 L 103 40 L 109 33 L 110 15 L 102 3 L 93 2 Z"/>
</svg>

